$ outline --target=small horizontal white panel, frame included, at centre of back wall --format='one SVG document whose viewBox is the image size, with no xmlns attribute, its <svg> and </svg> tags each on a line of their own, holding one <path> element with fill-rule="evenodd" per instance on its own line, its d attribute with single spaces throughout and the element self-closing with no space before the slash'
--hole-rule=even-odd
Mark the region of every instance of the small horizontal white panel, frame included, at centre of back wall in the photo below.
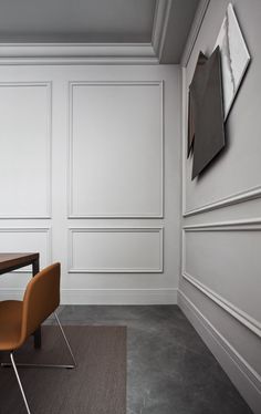
<svg viewBox="0 0 261 414">
<path fill-rule="evenodd" d="M 163 228 L 71 228 L 70 272 L 161 272 Z"/>
</svg>

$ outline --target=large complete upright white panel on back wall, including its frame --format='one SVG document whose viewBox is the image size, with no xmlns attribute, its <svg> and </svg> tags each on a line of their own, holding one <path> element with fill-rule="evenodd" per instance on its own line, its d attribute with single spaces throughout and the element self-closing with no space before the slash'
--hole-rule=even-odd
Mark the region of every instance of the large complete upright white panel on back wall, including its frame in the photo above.
<svg viewBox="0 0 261 414">
<path fill-rule="evenodd" d="M 71 83 L 70 217 L 163 216 L 163 83 Z"/>
</svg>

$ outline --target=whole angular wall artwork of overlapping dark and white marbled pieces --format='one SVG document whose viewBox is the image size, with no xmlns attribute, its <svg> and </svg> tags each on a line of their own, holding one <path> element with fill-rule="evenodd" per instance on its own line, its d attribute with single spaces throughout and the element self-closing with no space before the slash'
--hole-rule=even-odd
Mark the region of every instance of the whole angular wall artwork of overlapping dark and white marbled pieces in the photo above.
<svg viewBox="0 0 261 414">
<path fill-rule="evenodd" d="M 188 100 L 187 157 L 194 155 L 192 179 L 226 145 L 225 121 L 250 62 L 232 4 L 229 3 L 215 50 L 199 53 Z"/>
</svg>

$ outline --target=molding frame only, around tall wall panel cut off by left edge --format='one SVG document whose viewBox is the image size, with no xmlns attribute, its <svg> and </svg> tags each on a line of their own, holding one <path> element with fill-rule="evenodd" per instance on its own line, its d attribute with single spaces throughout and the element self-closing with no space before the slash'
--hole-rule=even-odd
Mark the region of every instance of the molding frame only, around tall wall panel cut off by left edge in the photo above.
<svg viewBox="0 0 261 414">
<path fill-rule="evenodd" d="M 52 82 L 0 82 L 1 87 L 46 87 L 48 90 L 48 108 L 46 108 L 46 214 L 44 215 L 0 215 L 0 219 L 45 219 L 51 218 L 52 215 Z M 32 196 L 34 196 L 32 194 Z"/>
</svg>

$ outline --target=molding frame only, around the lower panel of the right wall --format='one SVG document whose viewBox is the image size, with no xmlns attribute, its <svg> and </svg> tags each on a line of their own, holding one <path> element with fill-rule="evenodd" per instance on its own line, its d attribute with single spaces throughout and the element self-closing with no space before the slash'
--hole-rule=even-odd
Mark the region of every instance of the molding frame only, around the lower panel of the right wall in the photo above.
<svg viewBox="0 0 261 414">
<path fill-rule="evenodd" d="M 205 283 L 197 280 L 196 277 L 189 275 L 186 270 L 186 232 L 205 232 L 205 231 L 261 231 L 261 218 L 248 220 L 232 220 L 220 222 L 207 222 L 201 225 L 184 226 L 182 228 L 182 246 L 181 246 L 181 275 L 190 284 L 200 290 L 203 294 L 215 301 L 225 311 L 230 313 L 246 328 L 261 338 L 261 323 L 252 318 L 249 313 L 242 311 L 229 300 L 218 294 Z"/>
</svg>

